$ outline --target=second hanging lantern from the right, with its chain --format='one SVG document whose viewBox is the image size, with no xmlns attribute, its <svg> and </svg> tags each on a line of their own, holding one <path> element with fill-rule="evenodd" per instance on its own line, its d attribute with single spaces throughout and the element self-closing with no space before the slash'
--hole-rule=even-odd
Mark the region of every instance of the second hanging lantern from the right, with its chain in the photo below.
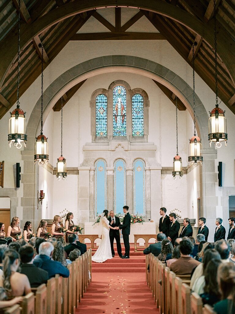
<svg viewBox="0 0 235 314">
<path fill-rule="evenodd" d="M 188 161 L 189 164 L 193 163 L 195 166 L 198 165 L 198 163 L 201 163 L 203 161 L 202 156 L 202 145 L 201 145 L 201 139 L 196 136 L 196 114 L 195 114 L 195 68 L 194 68 L 194 46 L 196 46 L 197 43 L 193 43 L 193 122 L 194 122 L 194 136 L 189 140 L 189 156 Z"/>
</svg>

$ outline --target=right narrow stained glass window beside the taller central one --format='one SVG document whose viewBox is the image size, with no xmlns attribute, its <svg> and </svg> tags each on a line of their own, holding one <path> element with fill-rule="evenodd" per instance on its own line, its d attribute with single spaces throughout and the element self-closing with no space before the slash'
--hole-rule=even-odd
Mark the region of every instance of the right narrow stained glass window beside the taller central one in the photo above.
<svg viewBox="0 0 235 314">
<path fill-rule="evenodd" d="M 140 94 L 132 97 L 132 136 L 144 136 L 144 98 Z"/>
</svg>

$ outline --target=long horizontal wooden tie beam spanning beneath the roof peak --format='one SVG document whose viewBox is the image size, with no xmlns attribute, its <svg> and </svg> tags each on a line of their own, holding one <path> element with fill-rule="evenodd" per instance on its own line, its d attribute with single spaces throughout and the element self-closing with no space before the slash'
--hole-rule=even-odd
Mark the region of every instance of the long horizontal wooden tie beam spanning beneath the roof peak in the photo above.
<svg viewBox="0 0 235 314">
<path fill-rule="evenodd" d="M 84 40 L 165 40 L 161 33 L 104 32 L 74 34 L 71 41 Z"/>
</svg>

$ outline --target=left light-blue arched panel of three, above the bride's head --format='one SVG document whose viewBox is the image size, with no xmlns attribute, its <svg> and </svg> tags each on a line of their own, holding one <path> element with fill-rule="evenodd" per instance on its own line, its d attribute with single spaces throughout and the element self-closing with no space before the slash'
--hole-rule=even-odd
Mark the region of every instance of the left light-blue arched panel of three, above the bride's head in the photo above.
<svg viewBox="0 0 235 314">
<path fill-rule="evenodd" d="M 95 162 L 95 214 L 101 214 L 107 208 L 106 162 Z"/>
</svg>

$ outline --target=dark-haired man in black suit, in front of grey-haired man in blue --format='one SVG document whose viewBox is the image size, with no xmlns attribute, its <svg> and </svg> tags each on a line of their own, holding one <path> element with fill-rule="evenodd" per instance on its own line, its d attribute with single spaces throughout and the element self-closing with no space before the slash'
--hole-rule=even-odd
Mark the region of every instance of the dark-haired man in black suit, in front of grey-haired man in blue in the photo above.
<svg viewBox="0 0 235 314">
<path fill-rule="evenodd" d="M 25 274 L 31 288 L 37 288 L 40 284 L 46 284 L 49 279 L 48 273 L 33 264 L 34 249 L 30 245 L 22 246 L 19 250 L 21 260 L 20 273 Z"/>
</svg>

